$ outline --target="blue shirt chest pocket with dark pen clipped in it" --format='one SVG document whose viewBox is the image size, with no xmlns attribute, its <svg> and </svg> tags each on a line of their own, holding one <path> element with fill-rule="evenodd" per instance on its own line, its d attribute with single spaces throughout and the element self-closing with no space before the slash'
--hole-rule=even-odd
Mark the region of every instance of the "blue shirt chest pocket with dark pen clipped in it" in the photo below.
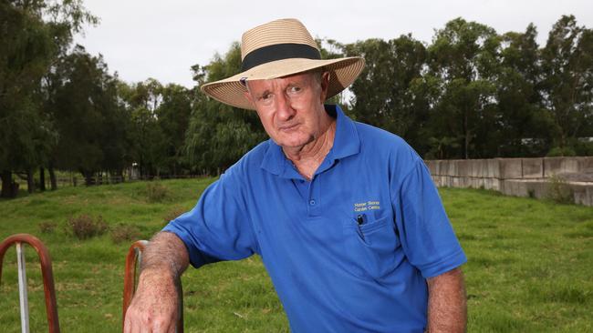
<svg viewBox="0 0 593 333">
<path fill-rule="evenodd" d="M 359 224 L 348 220 L 343 226 L 344 254 L 351 273 L 362 278 L 381 278 L 397 267 L 400 247 L 393 217 L 368 219 Z"/>
</svg>

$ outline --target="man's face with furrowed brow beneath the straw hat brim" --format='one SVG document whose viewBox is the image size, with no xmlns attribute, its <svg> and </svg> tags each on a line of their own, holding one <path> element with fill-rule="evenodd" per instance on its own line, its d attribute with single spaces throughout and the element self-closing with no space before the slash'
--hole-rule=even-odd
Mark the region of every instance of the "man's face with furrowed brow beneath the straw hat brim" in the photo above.
<svg viewBox="0 0 593 333">
<path fill-rule="evenodd" d="M 302 148 L 327 129 L 323 102 L 329 76 L 318 76 L 305 73 L 248 82 L 245 97 L 255 106 L 265 132 L 278 146 Z"/>
</svg>

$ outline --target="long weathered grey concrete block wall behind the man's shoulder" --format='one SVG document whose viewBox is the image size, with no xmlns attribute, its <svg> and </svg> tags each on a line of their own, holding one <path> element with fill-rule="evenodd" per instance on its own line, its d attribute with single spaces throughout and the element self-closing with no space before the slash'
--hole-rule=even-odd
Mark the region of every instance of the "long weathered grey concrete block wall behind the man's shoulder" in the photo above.
<svg viewBox="0 0 593 333">
<path fill-rule="evenodd" d="M 473 187 L 517 197 L 546 197 L 549 177 L 567 179 L 575 203 L 593 206 L 593 156 L 427 160 L 438 187 Z M 588 177 L 584 177 L 583 175 Z"/>
</svg>

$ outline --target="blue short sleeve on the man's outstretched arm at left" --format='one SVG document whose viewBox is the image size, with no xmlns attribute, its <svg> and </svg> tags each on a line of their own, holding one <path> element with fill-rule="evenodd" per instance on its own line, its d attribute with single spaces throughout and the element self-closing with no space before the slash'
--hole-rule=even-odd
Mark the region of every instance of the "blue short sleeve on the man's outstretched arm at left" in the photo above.
<svg viewBox="0 0 593 333">
<path fill-rule="evenodd" d="M 172 220 L 162 231 L 185 243 L 193 267 L 238 260 L 255 253 L 255 237 L 241 195 L 240 182 L 224 174 L 206 188 L 193 209 Z"/>
</svg>

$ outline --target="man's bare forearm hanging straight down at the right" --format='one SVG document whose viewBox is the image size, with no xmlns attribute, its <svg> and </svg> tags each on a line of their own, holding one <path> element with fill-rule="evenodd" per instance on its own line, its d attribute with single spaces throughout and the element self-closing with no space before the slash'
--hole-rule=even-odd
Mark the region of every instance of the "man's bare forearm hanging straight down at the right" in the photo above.
<svg viewBox="0 0 593 333">
<path fill-rule="evenodd" d="M 467 305 L 462 269 L 428 278 L 429 333 L 465 332 Z"/>
</svg>

